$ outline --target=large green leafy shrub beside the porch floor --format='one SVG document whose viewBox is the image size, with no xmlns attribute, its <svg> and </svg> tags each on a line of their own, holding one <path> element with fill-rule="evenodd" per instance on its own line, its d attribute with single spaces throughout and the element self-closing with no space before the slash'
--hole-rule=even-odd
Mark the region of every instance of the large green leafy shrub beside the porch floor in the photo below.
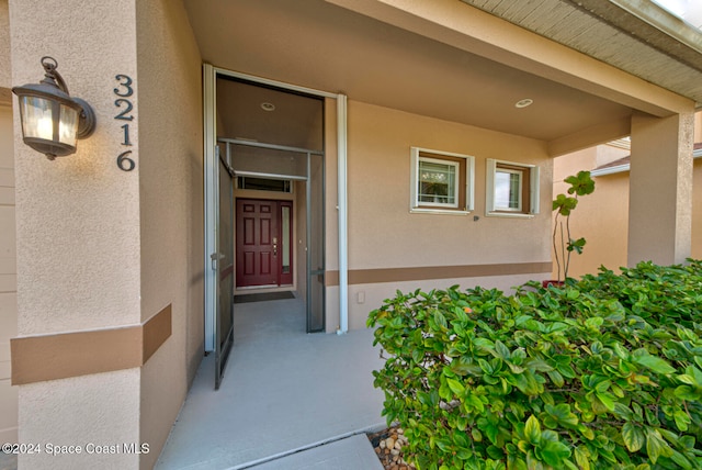
<svg viewBox="0 0 702 470">
<path fill-rule="evenodd" d="M 702 265 L 371 312 L 384 415 L 423 469 L 702 468 Z"/>
</svg>

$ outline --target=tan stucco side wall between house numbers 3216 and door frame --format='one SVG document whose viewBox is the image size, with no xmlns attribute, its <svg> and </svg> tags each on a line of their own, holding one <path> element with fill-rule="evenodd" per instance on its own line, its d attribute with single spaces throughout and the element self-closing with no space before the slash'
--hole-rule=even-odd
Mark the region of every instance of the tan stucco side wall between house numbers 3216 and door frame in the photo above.
<svg viewBox="0 0 702 470">
<path fill-rule="evenodd" d="M 201 57 L 180 2 L 136 2 L 141 321 L 172 304 L 172 336 L 141 369 L 151 468 L 203 357 Z M 213 374 L 214 378 L 214 374 Z"/>
</svg>

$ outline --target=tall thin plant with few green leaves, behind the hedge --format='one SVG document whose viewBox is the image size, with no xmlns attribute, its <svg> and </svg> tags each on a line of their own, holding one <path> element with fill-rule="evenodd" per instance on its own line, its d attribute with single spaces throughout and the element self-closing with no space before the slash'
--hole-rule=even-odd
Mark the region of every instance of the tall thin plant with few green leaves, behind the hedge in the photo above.
<svg viewBox="0 0 702 470">
<path fill-rule="evenodd" d="M 553 200 L 553 211 L 556 213 L 553 223 L 553 251 L 557 267 L 558 281 L 568 278 L 570 255 L 580 255 L 585 247 L 584 237 L 574 239 L 570 234 L 570 214 L 578 205 L 578 198 L 595 191 L 595 181 L 590 171 L 578 171 L 577 175 L 564 179 L 569 186 L 567 194 L 561 193 Z M 561 273 L 563 272 L 563 278 Z"/>
</svg>

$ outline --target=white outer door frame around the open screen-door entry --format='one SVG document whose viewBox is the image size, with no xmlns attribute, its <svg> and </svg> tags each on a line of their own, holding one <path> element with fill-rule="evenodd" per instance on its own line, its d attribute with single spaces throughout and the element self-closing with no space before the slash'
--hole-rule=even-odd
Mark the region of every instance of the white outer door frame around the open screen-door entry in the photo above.
<svg viewBox="0 0 702 470">
<path fill-rule="evenodd" d="M 338 211 L 339 211 L 339 332 L 346 333 L 348 327 L 348 245 L 347 245 L 347 97 L 344 94 L 319 91 L 312 88 L 298 87 L 282 81 L 254 77 L 248 74 L 236 72 L 215 67 L 211 64 L 203 65 L 203 120 L 204 120 L 204 190 L 205 190 L 205 351 L 215 348 L 215 314 L 217 291 L 215 283 L 216 271 L 212 269 L 210 256 L 216 251 L 216 223 L 217 223 L 217 154 L 216 154 L 216 97 L 217 75 L 241 78 L 248 81 L 270 85 L 291 91 L 299 91 L 321 98 L 337 100 L 337 157 L 338 157 Z"/>
</svg>

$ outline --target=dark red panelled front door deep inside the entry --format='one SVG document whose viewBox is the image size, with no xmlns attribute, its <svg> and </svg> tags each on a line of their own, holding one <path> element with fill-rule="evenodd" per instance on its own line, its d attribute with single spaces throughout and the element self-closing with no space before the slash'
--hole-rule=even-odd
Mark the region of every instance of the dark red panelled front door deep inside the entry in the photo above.
<svg viewBox="0 0 702 470">
<path fill-rule="evenodd" d="M 282 222 L 283 212 L 290 217 L 290 209 L 287 201 L 237 199 L 237 287 L 292 283 L 292 231 Z"/>
</svg>

